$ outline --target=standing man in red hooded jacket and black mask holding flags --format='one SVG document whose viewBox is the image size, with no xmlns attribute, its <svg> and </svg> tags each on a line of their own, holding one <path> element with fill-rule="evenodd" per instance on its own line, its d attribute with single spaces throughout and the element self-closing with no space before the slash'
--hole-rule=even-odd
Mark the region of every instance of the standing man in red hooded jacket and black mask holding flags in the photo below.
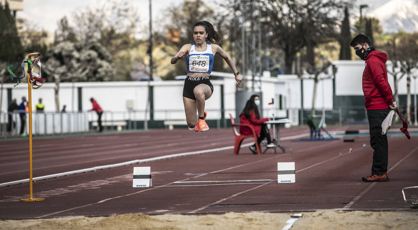
<svg viewBox="0 0 418 230">
<path fill-rule="evenodd" d="M 388 181 L 387 136 L 382 135 L 382 122 L 390 110 L 396 110 L 392 89 L 387 82 L 385 62 L 387 56 L 373 48 L 370 39 L 359 34 L 350 42 L 360 59 L 366 61 L 363 71 L 364 106 L 369 119 L 370 146 L 373 152 L 372 174 L 363 176 L 363 181 Z"/>
</svg>

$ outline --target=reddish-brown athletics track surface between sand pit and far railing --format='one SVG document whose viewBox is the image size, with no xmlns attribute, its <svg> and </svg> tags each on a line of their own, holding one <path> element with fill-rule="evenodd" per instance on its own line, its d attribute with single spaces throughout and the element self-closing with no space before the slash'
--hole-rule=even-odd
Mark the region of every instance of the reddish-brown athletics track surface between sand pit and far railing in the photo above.
<svg viewBox="0 0 418 230">
<path fill-rule="evenodd" d="M 346 127 L 329 128 L 344 130 Z M 348 128 L 347 128 L 348 129 Z M 352 129 L 352 128 L 350 128 Z M 392 130 L 399 130 L 393 128 Z M 281 143 L 293 153 L 253 155 L 247 147 L 168 158 L 0 188 L 0 217 L 8 219 L 108 216 L 126 213 L 204 214 L 290 212 L 322 209 L 410 210 L 401 190 L 418 184 L 418 145 L 389 135 L 389 177 L 363 182 L 370 174 L 372 149 L 367 135 L 355 142 L 291 142 L 303 128 L 282 129 Z M 28 178 L 27 140 L 0 142 L 0 183 Z M 153 130 L 138 133 L 36 138 L 33 176 L 115 164 L 174 153 L 232 146 L 231 129 L 205 133 Z M 245 143 L 250 143 L 247 139 Z M 366 144 L 366 148 L 363 148 Z M 352 148 L 352 152 L 349 149 Z M 277 183 L 277 162 L 295 162 L 296 183 Z M 133 167 L 150 166 L 154 187 L 133 188 Z M 408 196 L 416 199 L 417 190 Z M 406 190 L 405 190 L 406 191 Z"/>
</svg>

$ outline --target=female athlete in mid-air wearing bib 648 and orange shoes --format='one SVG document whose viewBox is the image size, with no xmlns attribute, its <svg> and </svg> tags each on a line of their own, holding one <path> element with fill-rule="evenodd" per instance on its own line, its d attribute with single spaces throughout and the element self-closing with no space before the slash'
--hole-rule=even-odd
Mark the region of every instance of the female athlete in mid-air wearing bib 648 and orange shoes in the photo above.
<svg viewBox="0 0 418 230">
<path fill-rule="evenodd" d="M 204 132 L 209 130 L 205 121 L 207 117 L 205 100 L 208 100 L 213 93 L 209 76 L 212 72 L 214 55 L 219 54 L 227 62 L 239 84 L 241 84 L 242 77 L 229 55 L 217 44 L 212 44 L 213 41 L 220 43 L 221 35 L 214 30 L 211 23 L 207 21 L 194 23 L 193 39 L 193 44 L 184 45 L 171 58 L 171 64 L 176 64 L 179 59 L 186 56 L 187 77 L 184 80 L 183 103 L 187 125 L 194 128 L 196 132 Z M 196 110 L 199 119 L 196 118 Z"/>
</svg>

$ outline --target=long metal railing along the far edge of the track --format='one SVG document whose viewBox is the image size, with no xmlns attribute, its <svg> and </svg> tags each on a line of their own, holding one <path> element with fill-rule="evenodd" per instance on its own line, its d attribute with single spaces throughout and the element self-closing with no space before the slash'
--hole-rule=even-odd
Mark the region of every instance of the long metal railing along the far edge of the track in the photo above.
<svg viewBox="0 0 418 230">
<path fill-rule="evenodd" d="M 208 119 L 206 122 L 210 127 L 225 128 L 230 127 L 229 113 L 232 113 L 235 122 L 239 122 L 235 108 L 231 109 L 208 109 Z M 402 111 L 401 111 L 402 112 Z M 28 112 L 0 112 L 0 139 L 18 138 L 22 120 L 20 114 Z M 158 129 L 168 128 L 169 121 L 176 122 L 176 125 L 187 127 L 184 110 L 145 110 L 128 111 L 104 111 L 102 114 L 102 127 L 104 132 Z M 153 119 L 150 119 L 152 114 Z M 311 110 L 300 108 L 265 108 L 262 112 L 263 117 L 289 118 L 292 125 L 306 124 L 307 116 Z M 364 124 L 367 126 L 367 111 L 364 106 L 357 107 L 335 107 L 315 110 L 316 115 L 323 115 L 325 123 L 343 124 Z M 145 120 L 145 117 L 148 120 Z M 34 136 L 55 136 L 68 134 L 92 133 L 98 131 L 96 112 L 72 111 L 72 112 L 33 112 L 32 130 Z M 28 135 L 28 119 L 24 120 L 23 135 Z M 146 123 L 146 124 L 145 124 Z M 174 125 L 174 126 L 176 126 Z"/>
</svg>

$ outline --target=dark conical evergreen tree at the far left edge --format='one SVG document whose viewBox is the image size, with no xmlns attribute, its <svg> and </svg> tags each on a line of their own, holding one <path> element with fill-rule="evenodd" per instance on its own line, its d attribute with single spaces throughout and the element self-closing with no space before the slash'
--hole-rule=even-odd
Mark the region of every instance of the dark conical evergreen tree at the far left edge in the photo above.
<svg viewBox="0 0 418 230">
<path fill-rule="evenodd" d="M 6 1 L 5 7 L 0 4 L 0 61 L 13 64 L 21 61 L 23 56 L 22 44 L 18 36 L 15 17 Z"/>
</svg>

